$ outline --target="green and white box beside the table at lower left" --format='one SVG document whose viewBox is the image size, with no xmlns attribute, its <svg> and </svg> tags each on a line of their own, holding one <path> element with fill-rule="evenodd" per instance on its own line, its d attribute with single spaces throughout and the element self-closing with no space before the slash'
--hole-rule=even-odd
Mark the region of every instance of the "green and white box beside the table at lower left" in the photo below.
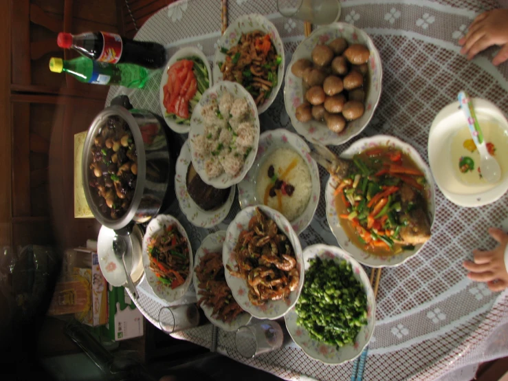
<svg viewBox="0 0 508 381">
<path fill-rule="evenodd" d="M 143 315 L 124 287 L 108 285 L 109 337 L 120 341 L 143 336 Z"/>
</svg>

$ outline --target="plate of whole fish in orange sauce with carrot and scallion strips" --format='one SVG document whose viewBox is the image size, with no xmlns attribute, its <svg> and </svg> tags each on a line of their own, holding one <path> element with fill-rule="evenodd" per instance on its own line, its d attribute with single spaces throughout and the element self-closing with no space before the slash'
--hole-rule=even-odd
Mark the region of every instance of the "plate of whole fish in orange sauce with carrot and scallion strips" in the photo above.
<svg viewBox="0 0 508 381">
<path fill-rule="evenodd" d="M 388 135 L 357 140 L 341 157 L 318 144 L 313 149 L 331 173 L 325 190 L 331 231 L 354 259 L 399 265 L 431 238 L 434 182 L 416 149 Z"/>
</svg>

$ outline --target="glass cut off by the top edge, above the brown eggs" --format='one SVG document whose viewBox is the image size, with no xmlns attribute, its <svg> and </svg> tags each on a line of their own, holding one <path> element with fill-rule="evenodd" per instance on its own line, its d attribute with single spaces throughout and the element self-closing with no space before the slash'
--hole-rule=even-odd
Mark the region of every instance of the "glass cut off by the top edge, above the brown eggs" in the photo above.
<svg viewBox="0 0 508 381">
<path fill-rule="evenodd" d="M 339 0 L 277 0 L 277 9 L 284 17 L 324 25 L 340 17 Z"/>
</svg>

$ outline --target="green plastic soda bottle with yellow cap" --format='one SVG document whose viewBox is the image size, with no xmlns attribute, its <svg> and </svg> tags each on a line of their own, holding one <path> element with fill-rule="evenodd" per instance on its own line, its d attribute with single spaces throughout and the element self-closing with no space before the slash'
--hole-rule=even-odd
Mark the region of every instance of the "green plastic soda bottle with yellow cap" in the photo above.
<svg viewBox="0 0 508 381">
<path fill-rule="evenodd" d="M 120 85 L 141 89 L 148 80 L 148 71 L 130 63 L 112 65 L 78 57 L 65 61 L 53 57 L 49 60 L 49 70 L 54 73 L 65 72 L 83 83 L 96 85 Z"/>
</svg>

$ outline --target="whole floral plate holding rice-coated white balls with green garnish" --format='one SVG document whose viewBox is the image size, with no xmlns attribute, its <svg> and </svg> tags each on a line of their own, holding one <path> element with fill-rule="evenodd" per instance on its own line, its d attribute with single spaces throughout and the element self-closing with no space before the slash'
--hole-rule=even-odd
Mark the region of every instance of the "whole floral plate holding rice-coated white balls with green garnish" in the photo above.
<svg viewBox="0 0 508 381">
<path fill-rule="evenodd" d="M 223 81 L 204 92 L 190 118 L 190 157 L 214 188 L 241 182 L 258 151 L 256 103 L 241 85 Z"/>
</svg>

